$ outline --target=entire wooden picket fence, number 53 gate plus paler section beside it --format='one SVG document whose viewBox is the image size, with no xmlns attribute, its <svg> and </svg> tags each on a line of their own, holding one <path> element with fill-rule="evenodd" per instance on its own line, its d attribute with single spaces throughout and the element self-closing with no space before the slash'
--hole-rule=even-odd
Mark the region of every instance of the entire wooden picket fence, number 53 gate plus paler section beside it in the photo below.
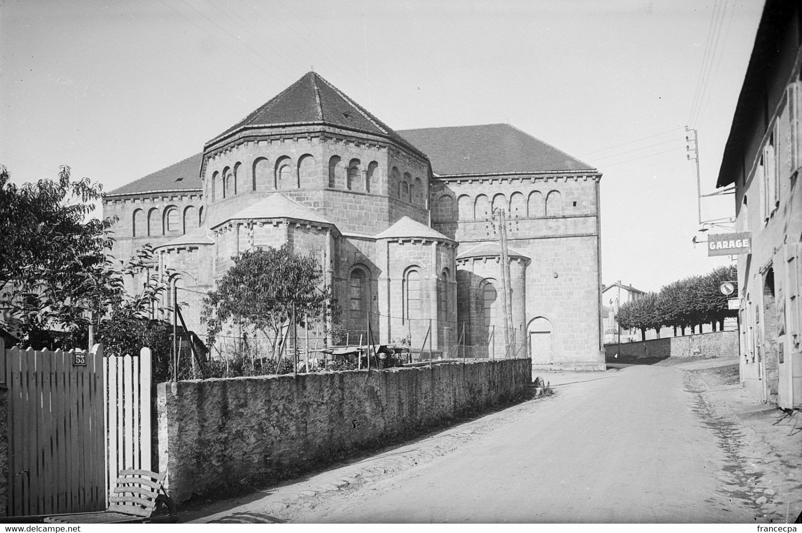
<svg viewBox="0 0 802 533">
<path fill-rule="evenodd" d="M 8 516 L 103 511 L 117 472 L 150 470 L 151 353 L 6 349 Z"/>
</svg>

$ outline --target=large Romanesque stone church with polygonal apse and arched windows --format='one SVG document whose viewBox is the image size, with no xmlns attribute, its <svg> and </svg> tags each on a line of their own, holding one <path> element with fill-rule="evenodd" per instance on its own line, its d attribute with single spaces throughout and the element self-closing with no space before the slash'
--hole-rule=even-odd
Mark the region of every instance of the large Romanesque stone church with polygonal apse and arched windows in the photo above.
<svg viewBox="0 0 802 533">
<path fill-rule="evenodd" d="M 350 338 L 370 325 L 380 342 L 415 347 L 431 325 L 435 349 L 483 357 L 504 357 L 501 208 L 516 356 L 604 369 L 601 177 L 508 124 L 394 131 L 309 72 L 103 207 L 119 217 L 115 256 L 151 243 L 154 269 L 188 289 L 179 300 L 198 333 L 201 293 L 232 256 L 289 244 L 324 265 Z"/>
</svg>

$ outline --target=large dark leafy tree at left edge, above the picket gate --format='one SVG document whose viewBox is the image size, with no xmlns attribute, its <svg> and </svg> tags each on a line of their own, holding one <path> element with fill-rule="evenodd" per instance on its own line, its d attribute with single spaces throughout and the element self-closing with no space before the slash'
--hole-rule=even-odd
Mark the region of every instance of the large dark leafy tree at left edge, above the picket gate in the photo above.
<svg viewBox="0 0 802 533">
<path fill-rule="evenodd" d="M 83 346 L 90 325 L 99 341 L 117 339 L 115 327 L 144 320 L 166 289 L 154 275 L 128 294 L 125 279 L 152 264 L 152 248 L 126 262 L 110 255 L 116 219 L 86 220 L 101 195 L 100 184 L 72 181 L 67 166 L 58 181 L 18 187 L 0 165 L 0 321 L 27 345 Z M 120 349 L 134 352 L 125 343 Z"/>
</svg>

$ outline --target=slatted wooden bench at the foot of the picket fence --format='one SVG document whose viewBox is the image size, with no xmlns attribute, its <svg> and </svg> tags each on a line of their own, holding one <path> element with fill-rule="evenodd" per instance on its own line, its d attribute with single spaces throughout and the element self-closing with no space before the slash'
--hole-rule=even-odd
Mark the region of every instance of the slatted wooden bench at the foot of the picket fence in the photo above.
<svg viewBox="0 0 802 533">
<path fill-rule="evenodd" d="M 45 523 L 176 522 L 178 513 L 164 491 L 164 474 L 149 470 L 120 470 L 106 511 L 49 515 Z"/>
</svg>

